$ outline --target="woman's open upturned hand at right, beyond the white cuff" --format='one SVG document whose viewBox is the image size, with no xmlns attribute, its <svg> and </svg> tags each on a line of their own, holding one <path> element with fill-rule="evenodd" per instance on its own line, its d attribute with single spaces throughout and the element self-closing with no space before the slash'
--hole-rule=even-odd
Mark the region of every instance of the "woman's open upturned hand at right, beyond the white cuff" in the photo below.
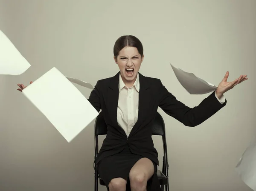
<svg viewBox="0 0 256 191">
<path fill-rule="evenodd" d="M 229 76 L 229 72 L 227 71 L 225 74 L 225 77 L 221 81 L 221 83 L 218 85 L 218 88 L 216 89 L 216 94 L 221 97 L 225 92 L 229 91 L 233 87 L 235 87 L 237 84 L 248 80 L 247 75 L 241 75 L 239 78 L 234 80 L 233 82 L 227 82 L 227 78 Z"/>
</svg>

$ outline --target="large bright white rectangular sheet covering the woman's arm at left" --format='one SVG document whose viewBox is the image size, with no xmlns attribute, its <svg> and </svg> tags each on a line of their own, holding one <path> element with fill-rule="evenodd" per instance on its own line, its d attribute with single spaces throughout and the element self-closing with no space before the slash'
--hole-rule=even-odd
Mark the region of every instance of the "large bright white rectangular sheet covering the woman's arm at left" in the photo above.
<svg viewBox="0 0 256 191">
<path fill-rule="evenodd" d="M 99 114 L 55 67 L 23 89 L 23 94 L 67 142 L 73 140 Z"/>
</svg>

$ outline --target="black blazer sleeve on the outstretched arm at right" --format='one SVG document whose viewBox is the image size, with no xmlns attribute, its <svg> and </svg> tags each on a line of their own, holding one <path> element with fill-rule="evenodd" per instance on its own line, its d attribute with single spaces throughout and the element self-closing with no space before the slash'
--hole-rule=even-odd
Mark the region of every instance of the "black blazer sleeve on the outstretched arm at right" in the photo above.
<svg viewBox="0 0 256 191">
<path fill-rule="evenodd" d="M 215 97 L 215 91 L 205 98 L 198 106 L 189 108 L 173 96 L 160 81 L 159 107 L 166 114 L 174 117 L 186 126 L 195 127 L 203 123 L 227 104 L 221 104 Z"/>
</svg>

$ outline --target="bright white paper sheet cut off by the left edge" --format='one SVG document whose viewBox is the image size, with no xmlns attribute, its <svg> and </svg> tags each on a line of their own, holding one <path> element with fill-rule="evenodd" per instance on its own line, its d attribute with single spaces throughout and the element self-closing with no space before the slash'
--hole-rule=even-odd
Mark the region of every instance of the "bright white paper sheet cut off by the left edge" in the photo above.
<svg viewBox="0 0 256 191">
<path fill-rule="evenodd" d="M 0 74 L 20 75 L 29 67 L 28 61 L 0 30 Z"/>
</svg>

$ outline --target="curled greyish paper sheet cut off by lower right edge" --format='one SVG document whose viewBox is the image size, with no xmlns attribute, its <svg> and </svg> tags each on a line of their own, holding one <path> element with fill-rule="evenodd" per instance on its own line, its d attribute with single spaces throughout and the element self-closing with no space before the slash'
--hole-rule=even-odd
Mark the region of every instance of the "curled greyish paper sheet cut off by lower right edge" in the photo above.
<svg viewBox="0 0 256 191">
<path fill-rule="evenodd" d="M 242 154 L 240 161 L 236 165 L 238 172 L 244 183 L 251 189 L 256 191 L 256 143 L 251 143 L 244 154 Z"/>
</svg>

